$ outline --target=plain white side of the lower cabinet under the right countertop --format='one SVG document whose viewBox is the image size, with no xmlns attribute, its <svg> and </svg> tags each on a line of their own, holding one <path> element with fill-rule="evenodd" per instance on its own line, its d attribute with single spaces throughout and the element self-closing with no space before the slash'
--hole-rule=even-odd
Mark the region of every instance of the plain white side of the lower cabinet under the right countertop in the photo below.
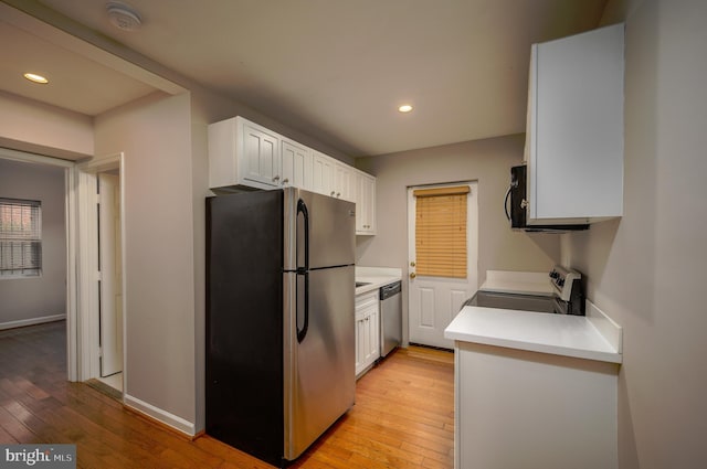
<svg viewBox="0 0 707 469">
<path fill-rule="evenodd" d="M 455 344 L 454 467 L 615 469 L 619 365 Z"/>
</svg>

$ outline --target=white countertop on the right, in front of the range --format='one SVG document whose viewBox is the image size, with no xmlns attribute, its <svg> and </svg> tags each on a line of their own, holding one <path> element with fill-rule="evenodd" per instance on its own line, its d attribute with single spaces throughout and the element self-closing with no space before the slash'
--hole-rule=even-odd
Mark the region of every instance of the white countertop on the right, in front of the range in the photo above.
<svg viewBox="0 0 707 469">
<path fill-rule="evenodd" d="M 455 341 L 621 363 L 621 327 L 587 301 L 588 316 L 466 306 L 444 331 Z"/>
</svg>

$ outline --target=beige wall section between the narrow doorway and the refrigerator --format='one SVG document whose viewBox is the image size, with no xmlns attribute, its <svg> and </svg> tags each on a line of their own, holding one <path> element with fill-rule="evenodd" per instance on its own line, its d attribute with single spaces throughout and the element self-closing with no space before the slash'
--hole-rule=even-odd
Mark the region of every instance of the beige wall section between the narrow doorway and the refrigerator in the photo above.
<svg viewBox="0 0 707 469">
<path fill-rule="evenodd" d="M 126 401 L 196 422 L 190 95 L 156 93 L 95 119 L 125 153 Z"/>
</svg>

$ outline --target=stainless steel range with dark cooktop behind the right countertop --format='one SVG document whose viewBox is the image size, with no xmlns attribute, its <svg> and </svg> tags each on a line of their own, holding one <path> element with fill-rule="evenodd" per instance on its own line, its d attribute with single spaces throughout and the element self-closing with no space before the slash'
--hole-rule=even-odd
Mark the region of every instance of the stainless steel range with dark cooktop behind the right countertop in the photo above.
<svg viewBox="0 0 707 469">
<path fill-rule="evenodd" d="M 549 274 L 549 295 L 535 295 L 507 290 L 485 290 L 484 287 L 464 302 L 464 306 L 515 309 L 520 311 L 552 312 L 558 315 L 584 316 L 584 292 L 582 275 L 572 269 L 555 266 Z"/>
</svg>

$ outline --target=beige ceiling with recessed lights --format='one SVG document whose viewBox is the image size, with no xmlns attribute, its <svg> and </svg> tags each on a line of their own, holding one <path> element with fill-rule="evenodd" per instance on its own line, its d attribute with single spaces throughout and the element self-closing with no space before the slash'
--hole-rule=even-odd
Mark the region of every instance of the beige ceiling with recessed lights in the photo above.
<svg viewBox="0 0 707 469">
<path fill-rule="evenodd" d="M 129 0 L 143 23 L 131 32 L 110 24 L 106 0 L 6 3 L 68 17 L 89 41 L 359 157 L 525 131 L 530 44 L 595 28 L 606 0 Z M 95 116 L 159 88 L 4 20 L 2 90 Z M 50 85 L 24 83 L 30 67 Z"/>
</svg>

